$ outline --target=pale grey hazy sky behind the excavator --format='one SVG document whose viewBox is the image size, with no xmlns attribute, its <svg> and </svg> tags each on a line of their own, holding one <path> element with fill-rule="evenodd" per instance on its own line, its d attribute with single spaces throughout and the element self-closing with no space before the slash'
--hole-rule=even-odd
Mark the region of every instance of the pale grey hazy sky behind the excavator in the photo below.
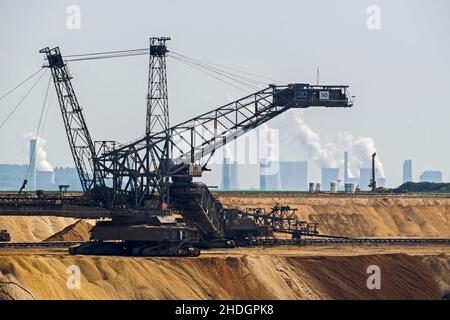
<svg viewBox="0 0 450 320">
<path fill-rule="evenodd" d="M 79 30 L 66 27 L 71 4 L 81 9 Z M 379 30 L 366 26 L 370 5 L 381 9 Z M 76 54 L 143 48 L 150 36 L 170 36 L 176 52 L 282 83 L 314 83 L 319 66 L 321 82 L 350 85 L 356 104 L 306 110 L 311 129 L 324 139 L 343 131 L 372 137 L 389 185 L 401 183 L 404 159 L 413 159 L 415 179 L 436 169 L 449 180 L 449 30 L 448 0 L 0 0 L 0 96 L 39 69 L 45 46 Z M 94 140 L 142 135 L 148 57 L 73 62 L 70 69 Z M 172 124 L 243 95 L 170 59 L 168 76 Z M 47 79 L 0 129 L 0 163 L 27 161 L 24 136 L 36 129 Z M 72 166 L 51 89 L 41 136 L 52 165 Z M 24 92 L 0 101 L 0 122 Z"/>
</svg>

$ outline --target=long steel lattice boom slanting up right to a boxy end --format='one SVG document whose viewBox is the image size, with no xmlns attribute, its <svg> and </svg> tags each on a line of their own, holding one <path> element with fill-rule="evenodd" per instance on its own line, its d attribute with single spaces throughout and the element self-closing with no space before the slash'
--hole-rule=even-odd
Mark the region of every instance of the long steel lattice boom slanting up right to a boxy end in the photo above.
<svg viewBox="0 0 450 320">
<path fill-rule="evenodd" d="M 346 86 L 290 84 L 269 86 L 156 134 L 100 154 L 102 174 L 115 195 L 132 195 L 136 206 L 159 191 L 161 177 L 189 180 L 189 166 L 218 148 L 291 108 L 350 107 Z M 151 161 L 151 153 L 157 159 Z"/>
</svg>

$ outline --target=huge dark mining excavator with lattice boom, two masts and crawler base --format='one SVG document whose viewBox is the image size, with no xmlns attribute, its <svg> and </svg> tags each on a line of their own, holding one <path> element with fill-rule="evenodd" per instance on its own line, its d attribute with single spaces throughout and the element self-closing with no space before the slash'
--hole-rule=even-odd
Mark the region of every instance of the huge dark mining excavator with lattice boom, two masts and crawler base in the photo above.
<svg viewBox="0 0 450 320">
<path fill-rule="evenodd" d="M 92 140 L 60 49 L 40 51 L 51 70 L 83 199 L 96 208 L 83 217 L 107 212 L 108 218 L 98 221 L 92 241 L 71 248 L 72 254 L 196 256 L 208 244 L 233 246 L 236 240 L 264 235 L 253 219 L 241 215 L 237 222 L 235 210 L 224 208 L 193 178 L 208 170 L 216 150 L 289 109 L 352 106 L 347 86 L 268 85 L 170 126 L 168 40 L 150 39 L 146 132 L 128 144 Z"/>
</svg>

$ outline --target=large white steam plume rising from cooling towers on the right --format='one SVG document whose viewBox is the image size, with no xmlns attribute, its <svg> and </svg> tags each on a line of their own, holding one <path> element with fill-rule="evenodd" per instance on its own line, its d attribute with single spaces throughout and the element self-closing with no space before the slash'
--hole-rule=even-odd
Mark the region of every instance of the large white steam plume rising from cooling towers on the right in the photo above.
<svg viewBox="0 0 450 320">
<path fill-rule="evenodd" d="M 297 111 L 297 110 L 296 110 Z M 290 112 L 280 120 L 280 135 L 287 150 L 306 152 L 308 159 L 320 168 L 343 167 L 344 151 L 349 153 L 349 177 L 358 176 L 360 168 L 371 168 L 371 155 L 376 152 L 375 141 L 371 137 L 355 137 L 349 132 L 339 132 L 325 140 L 309 127 L 301 112 Z M 292 128 L 286 130 L 284 128 Z M 377 154 L 375 165 L 377 174 L 385 178 L 383 163 Z"/>
</svg>

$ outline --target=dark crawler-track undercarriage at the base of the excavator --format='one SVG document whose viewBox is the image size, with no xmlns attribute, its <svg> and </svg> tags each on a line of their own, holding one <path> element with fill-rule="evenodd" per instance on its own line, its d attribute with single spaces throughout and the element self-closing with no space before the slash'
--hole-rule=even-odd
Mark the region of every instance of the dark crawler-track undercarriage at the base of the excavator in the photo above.
<svg viewBox="0 0 450 320">
<path fill-rule="evenodd" d="M 198 230 L 180 223 L 165 210 L 135 212 L 98 221 L 91 240 L 69 248 L 70 254 L 197 257 Z"/>
</svg>

